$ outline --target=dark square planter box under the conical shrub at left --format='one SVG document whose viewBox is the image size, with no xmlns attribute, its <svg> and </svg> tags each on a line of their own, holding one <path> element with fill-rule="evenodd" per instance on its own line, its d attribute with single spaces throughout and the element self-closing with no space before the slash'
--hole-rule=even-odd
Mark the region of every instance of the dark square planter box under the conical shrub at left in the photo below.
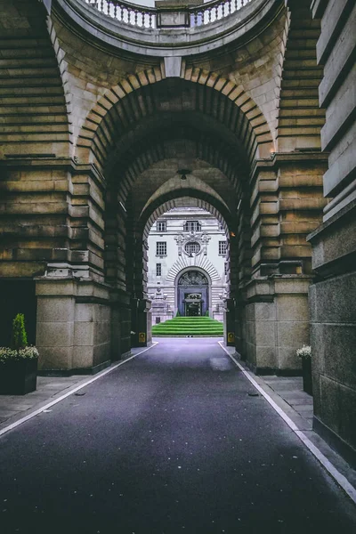
<svg viewBox="0 0 356 534">
<path fill-rule="evenodd" d="M 36 391 L 37 358 L 9 360 L 0 364 L 0 395 L 25 395 Z"/>
</svg>

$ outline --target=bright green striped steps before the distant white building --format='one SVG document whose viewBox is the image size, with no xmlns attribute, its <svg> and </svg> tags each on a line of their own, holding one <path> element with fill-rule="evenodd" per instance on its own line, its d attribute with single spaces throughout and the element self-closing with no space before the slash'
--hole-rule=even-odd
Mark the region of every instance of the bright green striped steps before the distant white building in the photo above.
<svg viewBox="0 0 356 534">
<path fill-rule="evenodd" d="M 223 323 L 210 317 L 175 317 L 152 327 L 153 336 L 223 336 Z"/>
</svg>

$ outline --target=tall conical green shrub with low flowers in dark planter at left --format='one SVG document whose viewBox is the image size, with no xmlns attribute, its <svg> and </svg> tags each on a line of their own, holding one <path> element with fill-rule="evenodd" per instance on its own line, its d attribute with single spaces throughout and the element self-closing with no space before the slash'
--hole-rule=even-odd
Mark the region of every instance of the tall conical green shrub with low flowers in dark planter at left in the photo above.
<svg viewBox="0 0 356 534">
<path fill-rule="evenodd" d="M 25 318 L 12 321 L 12 347 L 0 347 L 0 394 L 24 395 L 36 391 L 38 351 L 28 345 Z"/>
</svg>

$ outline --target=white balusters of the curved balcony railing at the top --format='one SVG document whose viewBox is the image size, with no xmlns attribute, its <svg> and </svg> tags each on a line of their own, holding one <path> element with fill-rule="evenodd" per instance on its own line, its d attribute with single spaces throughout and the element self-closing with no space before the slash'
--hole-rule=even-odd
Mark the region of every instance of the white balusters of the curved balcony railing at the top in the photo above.
<svg viewBox="0 0 356 534">
<path fill-rule="evenodd" d="M 188 26 L 205 26 L 215 20 L 228 17 L 231 13 L 237 12 L 244 5 L 253 0 L 214 0 L 206 4 L 186 6 L 186 7 L 167 7 L 165 12 L 186 12 L 188 14 Z M 117 19 L 125 24 L 131 24 L 139 28 L 157 28 L 158 12 L 162 9 L 155 7 L 146 7 L 138 4 L 130 4 L 122 0 L 85 0 L 98 11 Z"/>
</svg>

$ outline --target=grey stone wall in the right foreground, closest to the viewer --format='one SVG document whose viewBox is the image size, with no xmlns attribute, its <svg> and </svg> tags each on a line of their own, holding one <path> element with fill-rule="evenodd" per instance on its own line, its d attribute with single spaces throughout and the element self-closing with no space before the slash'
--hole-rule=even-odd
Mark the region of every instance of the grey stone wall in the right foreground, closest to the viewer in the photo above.
<svg viewBox="0 0 356 534">
<path fill-rule="evenodd" d="M 323 223 L 312 232 L 311 287 L 314 426 L 356 457 L 356 5 L 312 2 L 321 17 L 317 45 L 327 109 L 321 147 L 328 154 Z"/>
</svg>

